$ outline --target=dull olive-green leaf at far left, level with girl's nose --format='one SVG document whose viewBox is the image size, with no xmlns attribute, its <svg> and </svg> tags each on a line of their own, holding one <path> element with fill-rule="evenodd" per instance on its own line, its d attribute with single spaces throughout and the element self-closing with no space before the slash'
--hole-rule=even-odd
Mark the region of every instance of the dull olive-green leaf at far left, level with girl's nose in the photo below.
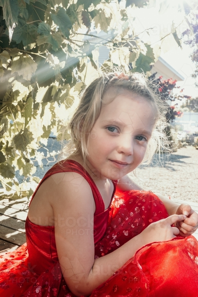
<svg viewBox="0 0 198 297">
<path fill-rule="evenodd" d="M 24 130 L 21 129 L 20 132 L 13 138 L 15 148 L 20 151 L 26 151 L 27 145 L 30 144 L 32 140 L 32 132 L 28 131 L 27 128 Z"/>
</svg>

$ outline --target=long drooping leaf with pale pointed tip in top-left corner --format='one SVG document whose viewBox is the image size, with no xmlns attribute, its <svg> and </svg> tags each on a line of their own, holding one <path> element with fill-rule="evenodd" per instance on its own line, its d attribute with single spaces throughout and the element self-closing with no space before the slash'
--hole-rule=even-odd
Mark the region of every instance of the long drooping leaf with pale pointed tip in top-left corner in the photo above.
<svg viewBox="0 0 198 297">
<path fill-rule="evenodd" d="M 3 18 L 9 30 L 9 41 L 11 41 L 13 29 L 18 23 L 18 7 L 15 0 L 0 0 L 0 6 L 3 7 Z"/>
</svg>

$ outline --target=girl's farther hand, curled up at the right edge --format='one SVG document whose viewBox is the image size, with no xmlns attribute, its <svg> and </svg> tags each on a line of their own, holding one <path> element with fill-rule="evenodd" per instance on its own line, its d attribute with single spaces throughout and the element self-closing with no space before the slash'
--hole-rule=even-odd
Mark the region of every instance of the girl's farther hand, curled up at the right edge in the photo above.
<svg viewBox="0 0 198 297">
<path fill-rule="evenodd" d="M 182 203 L 175 210 L 175 214 L 185 214 L 186 219 L 176 222 L 175 226 L 179 229 L 179 235 L 186 237 L 194 233 L 198 228 L 198 214 L 191 208 L 189 204 Z"/>
</svg>

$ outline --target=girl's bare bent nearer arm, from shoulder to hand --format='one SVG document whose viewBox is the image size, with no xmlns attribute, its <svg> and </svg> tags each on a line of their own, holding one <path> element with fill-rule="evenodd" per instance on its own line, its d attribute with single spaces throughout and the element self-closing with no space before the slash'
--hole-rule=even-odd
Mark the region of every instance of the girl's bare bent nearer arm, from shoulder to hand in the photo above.
<svg viewBox="0 0 198 297">
<path fill-rule="evenodd" d="M 76 296 L 89 296 L 143 245 L 174 237 L 174 228 L 169 224 L 172 229 L 167 232 L 167 227 L 161 228 L 159 221 L 114 252 L 94 259 L 94 198 L 88 182 L 73 172 L 65 173 L 60 182 L 58 178 L 56 182 L 50 178 L 49 200 L 54 211 L 58 259 L 64 279 Z"/>
</svg>

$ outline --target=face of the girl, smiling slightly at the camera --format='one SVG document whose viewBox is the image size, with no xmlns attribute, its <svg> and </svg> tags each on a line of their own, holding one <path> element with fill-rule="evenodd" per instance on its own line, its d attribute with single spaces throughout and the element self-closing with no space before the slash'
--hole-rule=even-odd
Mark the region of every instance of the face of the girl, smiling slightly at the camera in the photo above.
<svg viewBox="0 0 198 297">
<path fill-rule="evenodd" d="M 142 162 L 155 125 L 143 97 L 118 95 L 103 105 L 88 138 L 88 161 L 100 179 L 119 179 Z"/>
</svg>

